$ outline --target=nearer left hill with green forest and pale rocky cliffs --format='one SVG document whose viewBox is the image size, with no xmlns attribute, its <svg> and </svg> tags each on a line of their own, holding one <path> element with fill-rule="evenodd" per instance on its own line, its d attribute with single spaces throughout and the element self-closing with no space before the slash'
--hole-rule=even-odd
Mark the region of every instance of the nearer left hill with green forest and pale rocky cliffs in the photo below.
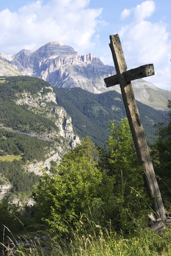
<svg viewBox="0 0 171 256">
<path fill-rule="evenodd" d="M 29 76 L 0 78 L 0 199 L 9 189 L 30 192 L 42 169 L 52 172 L 77 144 L 72 119 L 56 104 L 48 82 Z"/>
</svg>

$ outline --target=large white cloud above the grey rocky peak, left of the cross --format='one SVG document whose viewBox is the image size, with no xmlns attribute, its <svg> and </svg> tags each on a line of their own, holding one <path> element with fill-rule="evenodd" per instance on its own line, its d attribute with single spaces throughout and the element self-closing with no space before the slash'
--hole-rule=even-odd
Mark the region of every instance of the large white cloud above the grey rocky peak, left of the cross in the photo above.
<svg viewBox="0 0 171 256">
<path fill-rule="evenodd" d="M 0 12 L 0 51 L 14 54 L 21 49 L 38 49 L 49 41 L 62 41 L 79 53 L 94 46 L 102 8 L 88 8 L 89 0 L 40 0 L 17 12 Z"/>
</svg>

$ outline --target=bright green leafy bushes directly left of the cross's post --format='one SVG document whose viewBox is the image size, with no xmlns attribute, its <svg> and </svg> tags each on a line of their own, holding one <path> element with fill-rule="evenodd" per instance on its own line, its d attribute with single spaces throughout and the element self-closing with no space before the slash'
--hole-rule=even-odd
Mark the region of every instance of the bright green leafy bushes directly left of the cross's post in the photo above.
<svg viewBox="0 0 171 256">
<path fill-rule="evenodd" d="M 86 219 L 106 228 L 111 220 L 127 231 L 127 224 L 149 209 L 127 119 L 119 125 L 112 121 L 109 130 L 108 149 L 95 149 L 86 137 L 64 156 L 54 178 L 46 173 L 41 178 L 35 190 L 37 216 L 54 233 L 81 230 Z"/>
</svg>

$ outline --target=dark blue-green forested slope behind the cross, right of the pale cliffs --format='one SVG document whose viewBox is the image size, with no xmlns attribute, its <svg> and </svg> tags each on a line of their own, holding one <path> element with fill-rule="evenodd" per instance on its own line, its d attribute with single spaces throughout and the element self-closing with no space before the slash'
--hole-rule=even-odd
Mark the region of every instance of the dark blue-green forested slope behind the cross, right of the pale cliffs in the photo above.
<svg viewBox="0 0 171 256">
<path fill-rule="evenodd" d="M 107 140 L 109 120 L 120 122 L 126 117 L 121 94 L 110 91 L 102 94 L 92 94 L 81 88 L 55 88 L 57 104 L 63 106 L 72 118 L 73 126 L 80 136 L 90 136 L 93 142 L 103 146 Z M 164 114 L 154 108 L 137 102 L 145 128 L 147 141 L 153 143 L 156 139 L 153 125 L 165 122 Z"/>
</svg>

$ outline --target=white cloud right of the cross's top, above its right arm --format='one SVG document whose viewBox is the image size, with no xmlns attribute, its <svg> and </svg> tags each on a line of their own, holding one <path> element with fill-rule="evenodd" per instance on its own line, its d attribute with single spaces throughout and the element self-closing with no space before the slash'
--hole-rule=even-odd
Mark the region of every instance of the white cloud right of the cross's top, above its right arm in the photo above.
<svg viewBox="0 0 171 256">
<path fill-rule="evenodd" d="M 147 80 L 158 87 L 167 89 L 171 79 L 171 42 L 167 25 L 159 21 L 152 23 L 147 18 L 155 11 L 155 2 L 148 0 L 127 11 L 121 18 L 129 14 L 132 20 L 122 26 L 119 31 L 122 47 L 129 68 L 153 63 L 155 76 Z"/>
</svg>

